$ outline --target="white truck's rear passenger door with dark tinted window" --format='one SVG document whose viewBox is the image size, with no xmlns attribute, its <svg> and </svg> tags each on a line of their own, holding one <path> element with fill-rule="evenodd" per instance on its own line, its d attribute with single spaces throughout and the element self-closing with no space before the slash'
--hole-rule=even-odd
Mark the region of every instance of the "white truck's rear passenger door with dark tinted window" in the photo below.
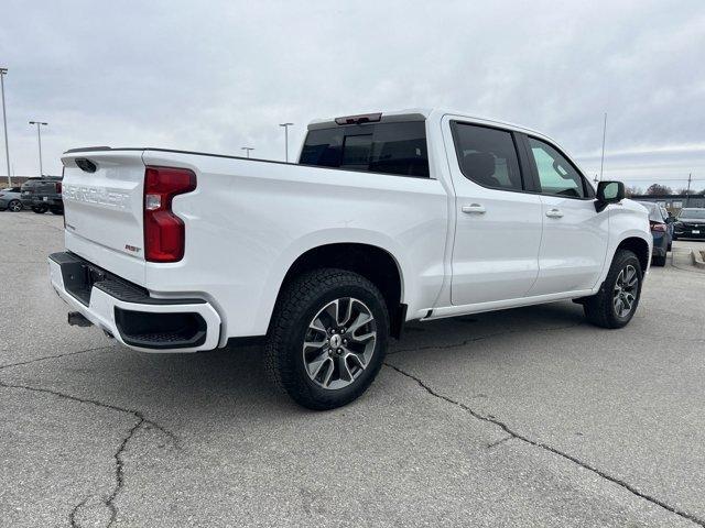
<svg viewBox="0 0 705 528">
<path fill-rule="evenodd" d="M 448 118 L 444 134 L 456 194 L 452 302 L 524 297 L 539 273 L 542 206 L 527 193 L 516 134 Z"/>
</svg>

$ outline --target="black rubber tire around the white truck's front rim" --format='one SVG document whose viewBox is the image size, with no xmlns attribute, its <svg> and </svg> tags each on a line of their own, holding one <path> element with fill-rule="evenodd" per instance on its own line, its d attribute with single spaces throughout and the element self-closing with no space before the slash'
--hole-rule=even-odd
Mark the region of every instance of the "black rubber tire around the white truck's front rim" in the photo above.
<svg viewBox="0 0 705 528">
<path fill-rule="evenodd" d="M 636 299 L 632 301 L 631 310 L 626 316 L 617 314 L 615 308 L 615 295 L 617 278 L 623 270 L 632 266 L 636 270 L 637 285 Z M 583 309 L 589 322 L 601 328 L 622 328 L 629 323 L 639 306 L 641 298 L 641 284 L 643 272 L 639 258 L 629 250 L 617 250 L 612 258 L 607 278 L 603 283 L 599 292 L 584 300 Z"/>
</svg>

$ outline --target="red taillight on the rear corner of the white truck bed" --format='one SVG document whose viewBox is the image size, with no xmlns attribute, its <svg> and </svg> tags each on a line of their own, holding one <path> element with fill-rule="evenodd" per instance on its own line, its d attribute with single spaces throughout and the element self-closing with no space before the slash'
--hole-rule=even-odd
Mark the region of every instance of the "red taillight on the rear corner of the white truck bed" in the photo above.
<svg viewBox="0 0 705 528">
<path fill-rule="evenodd" d="M 183 258 L 185 227 L 172 211 L 172 199 L 195 188 L 196 175 L 187 168 L 147 167 L 144 258 L 150 262 L 177 262 Z"/>
</svg>

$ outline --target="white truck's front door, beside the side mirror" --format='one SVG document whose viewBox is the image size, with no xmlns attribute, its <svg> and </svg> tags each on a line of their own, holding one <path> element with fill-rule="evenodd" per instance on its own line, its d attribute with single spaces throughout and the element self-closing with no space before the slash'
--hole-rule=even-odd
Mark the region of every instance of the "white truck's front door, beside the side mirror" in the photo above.
<svg viewBox="0 0 705 528">
<path fill-rule="evenodd" d="M 555 145 L 522 139 L 543 212 L 540 272 L 530 295 L 592 289 L 605 263 L 609 211 L 595 210 L 592 185 Z"/>
</svg>

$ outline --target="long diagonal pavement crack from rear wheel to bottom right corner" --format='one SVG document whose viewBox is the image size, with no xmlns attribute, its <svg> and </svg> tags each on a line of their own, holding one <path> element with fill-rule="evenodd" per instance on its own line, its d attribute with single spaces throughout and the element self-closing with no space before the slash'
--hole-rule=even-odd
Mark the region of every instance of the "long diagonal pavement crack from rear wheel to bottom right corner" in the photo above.
<svg viewBox="0 0 705 528">
<path fill-rule="evenodd" d="M 554 448 L 552 446 L 549 446 L 547 443 L 543 443 L 539 440 L 533 440 L 529 437 L 525 437 L 524 435 L 521 435 L 517 431 L 514 431 L 511 427 L 509 427 L 507 424 L 505 424 L 503 421 L 497 419 L 494 416 L 488 416 L 488 415 L 482 415 L 481 413 L 473 409 L 471 407 L 463 404 L 462 402 L 455 400 L 453 398 L 449 398 L 448 396 L 444 396 L 443 394 L 437 393 L 436 391 L 434 391 L 433 388 L 431 388 L 426 383 L 424 383 L 421 378 L 414 376 L 413 374 L 410 374 L 408 372 L 405 372 L 404 370 L 392 365 L 391 363 L 384 362 L 384 365 L 389 366 L 390 369 L 397 371 L 399 374 L 406 376 L 410 380 L 413 380 L 414 382 L 416 382 L 416 384 L 423 388 L 426 393 L 429 393 L 431 396 L 442 399 L 444 402 L 447 402 L 448 404 L 453 404 L 457 407 L 459 407 L 460 409 L 465 410 L 466 413 L 468 413 L 470 416 L 473 416 L 474 418 L 477 418 L 478 420 L 481 421 L 486 421 L 488 424 L 494 424 L 496 426 L 498 426 L 499 428 L 501 428 L 505 432 L 507 432 L 509 435 L 509 437 L 517 439 L 517 440 L 521 440 L 522 442 L 528 443 L 529 446 L 533 446 L 535 448 L 542 449 L 544 451 L 547 451 L 550 453 L 556 454 L 558 457 L 562 457 L 565 460 L 568 460 L 577 465 L 579 465 L 581 468 L 590 471 L 593 473 L 595 473 L 596 475 L 598 475 L 599 477 L 609 481 L 614 484 L 617 484 L 618 486 L 622 487 L 623 490 L 630 492 L 631 494 L 643 498 L 644 501 L 648 501 L 651 504 L 654 504 L 657 506 L 662 507 L 663 509 L 671 512 L 672 514 L 677 515 L 679 517 L 682 517 L 683 519 L 690 520 L 698 526 L 703 526 L 705 527 L 705 519 L 702 519 L 693 514 L 688 514 L 687 512 L 684 512 L 675 506 L 671 506 L 670 504 L 664 503 L 663 501 L 653 497 L 644 492 L 639 491 L 637 487 L 634 487 L 633 485 L 629 484 L 628 482 L 612 476 L 609 473 L 606 473 L 605 471 L 595 468 L 590 464 L 588 464 L 587 462 L 584 462 L 582 460 L 579 460 L 578 458 L 568 454 L 564 451 L 561 451 L 557 448 Z M 509 438 L 505 439 L 508 440 Z M 505 441 L 501 440 L 501 441 Z M 488 446 L 489 447 L 489 446 Z"/>
</svg>

